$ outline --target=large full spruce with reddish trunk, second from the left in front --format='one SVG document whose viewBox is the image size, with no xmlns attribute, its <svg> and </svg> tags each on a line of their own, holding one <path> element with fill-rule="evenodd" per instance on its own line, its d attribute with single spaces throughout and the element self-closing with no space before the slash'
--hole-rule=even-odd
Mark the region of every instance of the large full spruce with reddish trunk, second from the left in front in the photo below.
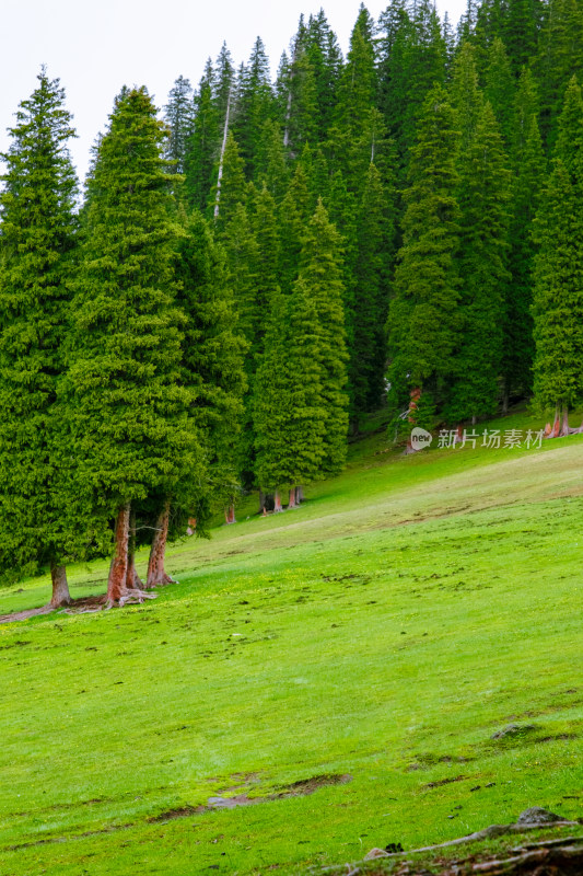
<svg viewBox="0 0 583 876">
<path fill-rule="evenodd" d="M 116 517 L 110 606 L 141 598 L 127 581 L 131 504 L 160 497 L 167 527 L 172 500 L 200 470 L 193 392 L 180 381 L 163 142 L 147 90 L 125 89 L 91 178 L 72 308 L 71 448 L 94 516 Z"/>
</svg>

